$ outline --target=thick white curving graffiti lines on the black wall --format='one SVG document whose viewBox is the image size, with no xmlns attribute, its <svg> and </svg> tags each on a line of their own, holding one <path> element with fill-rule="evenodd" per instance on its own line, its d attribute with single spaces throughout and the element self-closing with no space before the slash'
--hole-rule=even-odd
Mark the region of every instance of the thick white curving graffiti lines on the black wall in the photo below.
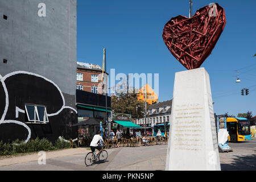
<svg viewBox="0 0 256 182">
<path fill-rule="evenodd" d="M 43 76 L 41 76 L 41 75 L 38 75 L 38 74 L 36 74 L 36 73 L 31 73 L 31 72 L 26 72 L 26 71 L 16 71 L 16 72 L 9 73 L 9 74 L 7 74 L 7 75 L 5 75 L 5 76 L 1 76 L 1 75 L 0 75 L 0 86 L 3 87 L 3 90 L 4 90 L 4 92 L 5 92 L 5 109 L 3 110 L 3 114 L 0 115 L 0 127 L 1 127 L 2 124 L 5 124 L 5 123 L 14 123 L 14 124 L 16 124 L 16 125 L 23 126 L 23 127 L 26 128 L 27 131 L 28 131 L 28 136 L 27 136 L 27 139 L 26 139 L 25 142 L 28 142 L 28 140 L 30 140 L 30 138 L 31 138 L 31 130 L 30 130 L 30 127 L 28 127 L 28 126 L 26 125 L 26 123 L 24 123 L 24 122 L 22 122 L 22 121 L 15 121 L 15 120 L 6 119 L 7 111 L 8 111 L 8 109 L 10 109 L 10 108 L 9 108 L 9 93 L 8 93 L 7 88 L 6 88 L 6 83 L 5 83 L 5 81 L 6 81 L 7 78 L 10 78 L 10 77 L 12 77 L 12 76 L 19 75 L 19 74 L 30 75 L 30 76 L 35 76 L 35 77 L 43 78 L 43 80 L 45 80 L 45 81 L 51 83 L 52 85 L 54 85 L 55 88 L 59 91 L 60 97 L 61 97 L 62 100 L 63 100 L 63 105 L 62 105 L 61 108 L 60 108 L 59 110 L 57 110 L 55 113 L 47 114 L 48 117 L 52 117 L 52 116 L 58 115 L 58 114 L 60 114 L 61 111 L 63 111 L 64 109 L 71 109 L 71 110 L 75 111 L 76 114 L 77 114 L 77 110 L 76 110 L 76 109 L 74 109 L 73 107 L 70 107 L 70 106 L 65 106 L 65 98 L 64 98 L 64 96 L 63 96 L 63 93 L 61 92 L 59 86 L 57 86 L 57 84 L 55 84 L 55 82 L 53 82 L 52 80 L 49 80 L 49 79 L 46 78 L 46 77 L 43 77 Z M 1 102 L 2 102 L 2 101 L 1 101 Z M 15 110 L 15 111 L 16 111 L 16 112 L 15 112 L 15 118 L 18 118 L 19 112 L 20 112 L 20 113 L 25 113 L 24 110 L 20 109 L 20 108 L 17 107 L 17 106 L 15 106 L 15 109 L 16 109 L 16 110 Z M 47 113 L 48 113 L 48 112 L 47 112 Z"/>
</svg>

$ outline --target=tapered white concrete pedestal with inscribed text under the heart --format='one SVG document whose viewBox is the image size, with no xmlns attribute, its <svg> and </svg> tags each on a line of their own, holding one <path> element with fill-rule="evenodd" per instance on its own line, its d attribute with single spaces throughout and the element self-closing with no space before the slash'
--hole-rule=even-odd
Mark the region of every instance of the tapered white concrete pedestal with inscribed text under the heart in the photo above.
<svg viewBox="0 0 256 182">
<path fill-rule="evenodd" d="M 166 170 L 220 169 L 209 75 L 204 68 L 178 72 L 174 83 Z"/>
</svg>

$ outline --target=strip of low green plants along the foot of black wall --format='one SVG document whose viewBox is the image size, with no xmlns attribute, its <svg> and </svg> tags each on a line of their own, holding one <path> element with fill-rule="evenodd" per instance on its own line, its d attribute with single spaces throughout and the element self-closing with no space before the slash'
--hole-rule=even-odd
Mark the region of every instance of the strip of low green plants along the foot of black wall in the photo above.
<svg viewBox="0 0 256 182">
<path fill-rule="evenodd" d="M 3 143 L 0 141 L 0 155 L 15 155 L 26 154 L 29 152 L 51 151 L 63 148 L 69 148 L 69 142 L 60 140 L 59 138 L 54 143 L 49 142 L 46 138 L 30 140 L 27 143 L 24 141 L 15 140 L 13 143 Z"/>
</svg>

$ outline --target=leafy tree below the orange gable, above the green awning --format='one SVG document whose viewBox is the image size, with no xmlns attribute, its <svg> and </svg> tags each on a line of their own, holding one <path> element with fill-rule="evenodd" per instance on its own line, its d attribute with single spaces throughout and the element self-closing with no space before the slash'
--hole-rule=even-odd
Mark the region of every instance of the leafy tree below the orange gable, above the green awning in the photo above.
<svg viewBox="0 0 256 182">
<path fill-rule="evenodd" d="M 137 93 L 121 92 L 111 97 L 111 106 L 113 113 L 131 114 L 131 118 L 144 117 L 144 103 L 138 100 Z"/>
</svg>

